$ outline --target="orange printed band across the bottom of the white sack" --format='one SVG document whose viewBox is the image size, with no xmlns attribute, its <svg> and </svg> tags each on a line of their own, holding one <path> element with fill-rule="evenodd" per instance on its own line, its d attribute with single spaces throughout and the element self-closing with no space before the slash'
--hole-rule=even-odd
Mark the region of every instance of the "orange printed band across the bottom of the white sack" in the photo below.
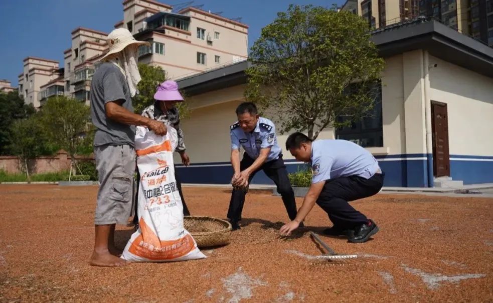
<svg viewBox="0 0 493 303">
<path fill-rule="evenodd" d="M 131 243 L 128 251 L 151 260 L 174 259 L 186 255 L 195 247 L 190 234 L 176 240 L 160 241 L 143 219 L 139 220 L 142 231 Z"/>
</svg>

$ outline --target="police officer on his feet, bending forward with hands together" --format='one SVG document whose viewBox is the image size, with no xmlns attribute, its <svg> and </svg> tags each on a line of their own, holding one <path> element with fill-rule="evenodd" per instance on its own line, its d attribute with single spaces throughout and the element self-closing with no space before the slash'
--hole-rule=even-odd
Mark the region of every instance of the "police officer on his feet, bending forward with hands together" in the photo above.
<svg viewBox="0 0 493 303">
<path fill-rule="evenodd" d="M 244 102 L 236 108 L 238 122 L 231 125 L 231 179 L 233 192 L 229 203 L 228 218 L 233 230 L 239 229 L 238 221 L 245 202 L 246 188 L 257 171 L 262 169 L 277 185 L 289 218 L 296 217 L 294 192 L 277 144 L 275 126 L 271 120 L 260 117 L 252 102 Z M 245 153 L 240 162 L 240 146 Z M 245 188 L 245 189 L 243 189 Z"/>
</svg>

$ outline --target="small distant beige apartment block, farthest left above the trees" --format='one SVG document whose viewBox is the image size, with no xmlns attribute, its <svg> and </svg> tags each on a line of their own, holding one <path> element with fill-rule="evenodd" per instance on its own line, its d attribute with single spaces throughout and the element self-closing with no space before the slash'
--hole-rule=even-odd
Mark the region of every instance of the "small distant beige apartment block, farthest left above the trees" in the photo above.
<svg viewBox="0 0 493 303">
<path fill-rule="evenodd" d="M 24 71 L 19 75 L 19 95 L 24 97 L 26 104 L 33 104 L 35 108 L 41 106 L 41 87 L 59 77 L 58 61 L 27 57 L 23 60 Z"/>
</svg>

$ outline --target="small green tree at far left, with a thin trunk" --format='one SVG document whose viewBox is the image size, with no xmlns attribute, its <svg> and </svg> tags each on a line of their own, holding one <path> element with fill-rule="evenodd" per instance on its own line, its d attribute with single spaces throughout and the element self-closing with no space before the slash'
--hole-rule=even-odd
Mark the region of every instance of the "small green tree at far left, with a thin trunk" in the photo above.
<svg viewBox="0 0 493 303">
<path fill-rule="evenodd" d="M 28 182 L 31 182 L 29 160 L 50 153 L 49 141 L 40 127 L 39 116 L 14 120 L 10 126 L 9 139 L 10 150 L 18 156 L 20 166 L 26 172 Z"/>
</svg>

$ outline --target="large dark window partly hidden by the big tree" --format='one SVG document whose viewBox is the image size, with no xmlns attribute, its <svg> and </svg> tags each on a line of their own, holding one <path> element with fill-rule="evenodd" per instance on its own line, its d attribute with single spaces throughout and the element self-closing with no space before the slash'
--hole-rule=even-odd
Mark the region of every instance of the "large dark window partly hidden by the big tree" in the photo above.
<svg viewBox="0 0 493 303">
<path fill-rule="evenodd" d="M 351 123 L 336 129 L 336 138 L 345 139 L 357 143 L 363 147 L 382 147 L 382 89 L 381 83 L 377 84 L 374 107 L 368 112 L 368 116 L 360 121 Z M 340 116 L 338 120 L 344 121 L 345 117 Z"/>
</svg>

